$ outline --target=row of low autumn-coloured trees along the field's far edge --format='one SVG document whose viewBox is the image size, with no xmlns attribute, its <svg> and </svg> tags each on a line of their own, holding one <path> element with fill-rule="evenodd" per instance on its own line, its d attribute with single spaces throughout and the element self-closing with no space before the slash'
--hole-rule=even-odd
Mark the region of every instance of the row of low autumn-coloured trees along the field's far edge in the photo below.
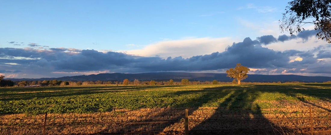
<svg viewBox="0 0 331 135">
<path fill-rule="evenodd" d="M 241 82 L 241 84 L 300 84 L 305 82 Z M 323 82 L 323 83 L 331 83 L 331 81 Z M 44 81 L 16 81 L 13 82 L 11 80 L 2 80 L 0 82 L 1 87 L 7 86 L 54 86 L 54 85 L 110 85 L 110 84 L 118 84 L 118 85 L 205 85 L 205 84 L 237 84 L 236 80 L 232 82 L 220 82 L 217 80 L 213 81 L 189 81 L 188 79 L 182 79 L 181 81 L 139 81 L 137 79 L 129 81 L 128 79 L 124 79 L 123 81 L 61 81 L 61 80 L 44 80 Z"/>
</svg>

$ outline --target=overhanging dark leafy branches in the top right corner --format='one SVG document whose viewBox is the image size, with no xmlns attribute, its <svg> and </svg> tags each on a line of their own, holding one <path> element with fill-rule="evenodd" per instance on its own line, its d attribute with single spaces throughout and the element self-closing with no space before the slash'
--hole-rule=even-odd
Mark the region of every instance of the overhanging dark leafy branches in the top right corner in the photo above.
<svg viewBox="0 0 331 135">
<path fill-rule="evenodd" d="M 315 25 L 316 36 L 331 43 L 331 1 L 330 0 L 293 0 L 288 2 L 280 22 L 281 31 L 291 35 L 305 30 L 302 26 Z"/>
</svg>

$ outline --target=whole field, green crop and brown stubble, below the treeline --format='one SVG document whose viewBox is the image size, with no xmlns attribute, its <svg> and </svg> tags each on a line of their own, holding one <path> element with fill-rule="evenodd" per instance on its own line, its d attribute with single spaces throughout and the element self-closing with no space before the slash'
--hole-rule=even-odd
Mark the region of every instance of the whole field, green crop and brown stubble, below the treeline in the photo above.
<svg viewBox="0 0 331 135">
<path fill-rule="evenodd" d="M 309 108 L 313 122 L 310 122 Z M 331 134 L 331 84 L 0 88 L 0 134 Z"/>
</svg>

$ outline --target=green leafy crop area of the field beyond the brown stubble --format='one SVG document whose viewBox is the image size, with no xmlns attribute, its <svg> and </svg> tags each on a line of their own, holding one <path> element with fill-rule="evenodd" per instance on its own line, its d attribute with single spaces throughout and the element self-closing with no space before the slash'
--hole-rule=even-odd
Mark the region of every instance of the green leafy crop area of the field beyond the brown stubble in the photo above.
<svg viewBox="0 0 331 135">
<path fill-rule="evenodd" d="M 0 114 L 218 106 L 256 111 L 282 107 L 268 104 L 271 101 L 330 101 L 330 89 L 331 84 L 10 87 L 0 89 Z"/>
</svg>

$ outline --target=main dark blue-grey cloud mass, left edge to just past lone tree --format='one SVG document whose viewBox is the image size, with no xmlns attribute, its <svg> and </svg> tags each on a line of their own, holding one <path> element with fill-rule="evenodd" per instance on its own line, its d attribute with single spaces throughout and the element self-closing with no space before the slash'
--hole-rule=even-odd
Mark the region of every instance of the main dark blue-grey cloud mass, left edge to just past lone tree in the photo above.
<svg viewBox="0 0 331 135">
<path fill-rule="evenodd" d="M 260 39 L 263 39 L 262 37 Z M 265 43 L 265 42 L 264 42 Z M 264 44 L 263 43 L 263 44 Z M 49 50 L 0 48 L 0 56 L 26 57 L 33 59 L 2 59 L 3 63 L 31 64 L 39 67 L 50 66 L 61 71 L 116 70 L 118 72 L 152 71 L 201 71 L 233 67 L 236 63 L 245 66 L 281 67 L 289 58 L 282 52 L 261 47 L 258 40 L 245 38 L 234 43 L 224 52 L 214 52 L 191 58 L 140 57 L 119 52 L 107 53 L 82 50 L 80 53 L 65 52 L 72 49 L 51 48 Z M 19 65 L 18 65 L 19 66 Z"/>
</svg>

